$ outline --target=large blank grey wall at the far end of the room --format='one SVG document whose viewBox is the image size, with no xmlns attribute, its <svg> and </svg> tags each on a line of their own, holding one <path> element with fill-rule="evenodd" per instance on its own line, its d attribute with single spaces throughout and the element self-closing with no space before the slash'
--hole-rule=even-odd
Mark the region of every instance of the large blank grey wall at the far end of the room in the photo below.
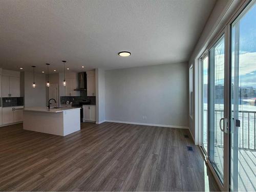
<svg viewBox="0 0 256 192">
<path fill-rule="evenodd" d="M 187 127 L 187 68 L 185 62 L 105 71 L 105 119 Z"/>
</svg>

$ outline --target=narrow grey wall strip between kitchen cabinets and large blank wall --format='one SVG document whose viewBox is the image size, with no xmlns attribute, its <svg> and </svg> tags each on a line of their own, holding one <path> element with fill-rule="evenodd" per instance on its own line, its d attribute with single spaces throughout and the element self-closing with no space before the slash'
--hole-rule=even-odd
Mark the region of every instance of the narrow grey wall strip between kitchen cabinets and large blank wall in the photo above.
<svg viewBox="0 0 256 192">
<path fill-rule="evenodd" d="M 96 85 L 96 122 L 100 123 L 105 120 L 105 71 L 102 69 L 95 70 Z"/>
</svg>

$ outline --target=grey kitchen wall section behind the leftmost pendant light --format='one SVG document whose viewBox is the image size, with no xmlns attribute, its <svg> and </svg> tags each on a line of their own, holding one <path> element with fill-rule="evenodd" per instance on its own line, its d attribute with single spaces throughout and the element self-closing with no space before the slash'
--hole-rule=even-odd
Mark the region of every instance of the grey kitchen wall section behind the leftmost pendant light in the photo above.
<svg viewBox="0 0 256 192">
<path fill-rule="evenodd" d="M 35 75 L 36 88 L 32 87 L 33 73 L 24 72 L 24 105 L 46 106 L 46 83 L 44 74 Z"/>
</svg>

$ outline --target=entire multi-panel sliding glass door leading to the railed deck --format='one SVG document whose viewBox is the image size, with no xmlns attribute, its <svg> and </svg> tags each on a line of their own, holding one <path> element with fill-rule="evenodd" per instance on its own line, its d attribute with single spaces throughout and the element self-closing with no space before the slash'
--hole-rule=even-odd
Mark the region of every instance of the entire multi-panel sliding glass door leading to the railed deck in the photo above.
<svg viewBox="0 0 256 192">
<path fill-rule="evenodd" d="M 221 190 L 256 191 L 256 0 L 201 57 L 201 146 Z"/>
</svg>

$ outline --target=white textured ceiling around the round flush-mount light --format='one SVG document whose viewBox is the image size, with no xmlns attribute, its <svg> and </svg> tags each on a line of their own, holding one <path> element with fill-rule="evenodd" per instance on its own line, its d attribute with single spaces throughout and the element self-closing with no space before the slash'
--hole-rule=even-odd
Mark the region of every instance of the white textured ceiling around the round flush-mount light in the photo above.
<svg viewBox="0 0 256 192">
<path fill-rule="evenodd" d="M 72 71 L 187 61 L 215 2 L 1 0 L 0 67 L 45 71 L 49 62 L 58 72 L 63 59 Z"/>
</svg>

